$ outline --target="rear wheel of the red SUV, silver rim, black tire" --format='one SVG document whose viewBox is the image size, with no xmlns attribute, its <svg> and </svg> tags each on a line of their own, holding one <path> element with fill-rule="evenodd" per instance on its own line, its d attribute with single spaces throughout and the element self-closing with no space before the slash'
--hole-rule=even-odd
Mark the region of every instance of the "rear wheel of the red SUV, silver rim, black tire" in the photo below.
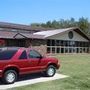
<svg viewBox="0 0 90 90">
<path fill-rule="evenodd" d="M 11 76 L 10 76 L 11 75 Z M 11 81 L 10 81 L 11 78 Z M 12 84 L 17 80 L 17 72 L 15 70 L 7 70 L 2 78 L 3 83 Z"/>
</svg>

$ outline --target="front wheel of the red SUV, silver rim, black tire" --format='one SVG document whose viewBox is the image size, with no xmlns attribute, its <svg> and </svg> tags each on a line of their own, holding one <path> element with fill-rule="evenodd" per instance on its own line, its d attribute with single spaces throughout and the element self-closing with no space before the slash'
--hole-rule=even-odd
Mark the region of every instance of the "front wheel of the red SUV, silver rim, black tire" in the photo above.
<svg viewBox="0 0 90 90">
<path fill-rule="evenodd" d="M 56 68 L 53 65 L 49 65 L 44 73 L 47 77 L 52 77 L 56 73 Z"/>
</svg>

